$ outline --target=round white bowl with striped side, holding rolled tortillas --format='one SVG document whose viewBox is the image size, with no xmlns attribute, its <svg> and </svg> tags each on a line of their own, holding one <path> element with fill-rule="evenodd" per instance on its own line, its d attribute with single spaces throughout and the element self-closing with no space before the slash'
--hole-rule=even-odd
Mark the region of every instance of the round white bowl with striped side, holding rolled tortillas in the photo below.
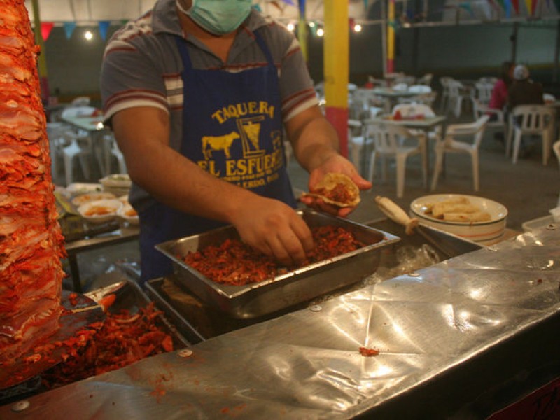
<svg viewBox="0 0 560 420">
<path fill-rule="evenodd" d="M 442 221 L 426 214 L 428 204 L 449 200 L 454 197 L 467 197 L 470 204 L 473 204 L 481 211 L 490 214 L 490 220 L 484 222 L 451 222 Z M 463 239 L 476 242 L 480 245 L 496 244 L 503 237 L 505 222 L 507 219 L 507 209 L 503 204 L 475 195 L 465 194 L 434 194 L 419 197 L 410 203 L 410 216 L 418 218 L 423 225 L 443 230 Z"/>
</svg>

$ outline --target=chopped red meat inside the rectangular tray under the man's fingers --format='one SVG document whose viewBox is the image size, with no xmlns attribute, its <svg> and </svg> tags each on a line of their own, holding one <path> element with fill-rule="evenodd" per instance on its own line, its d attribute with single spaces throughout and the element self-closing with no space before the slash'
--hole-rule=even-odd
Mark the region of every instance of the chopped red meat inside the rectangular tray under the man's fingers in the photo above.
<svg viewBox="0 0 560 420">
<path fill-rule="evenodd" d="M 314 227 L 311 228 L 311 233 L 315 248 L 307 254 L 304 265 L 334 258 L 365 246 L 349 230 L 337 226 Z M 200 251 L 188 253 L 183 260 L 212 281 L 235 286 L 258 283 L 287 272 L 274 258 L 255 251 L 239 239 L 227 239 L 219 246 L 207 246 Z"/>
</svg>

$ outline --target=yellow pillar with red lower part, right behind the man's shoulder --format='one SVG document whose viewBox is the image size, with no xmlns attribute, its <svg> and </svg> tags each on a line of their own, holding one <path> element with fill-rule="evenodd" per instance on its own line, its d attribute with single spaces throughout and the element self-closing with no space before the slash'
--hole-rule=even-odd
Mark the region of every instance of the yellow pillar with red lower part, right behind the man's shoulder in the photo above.
<svg viewBox="0 0 560 420">
<path fill-rule="evenodd" d="M 348 2 L 324 0 L 325 113 L 337 130 L 340 153 L 348 156 Z"/>
</svg>

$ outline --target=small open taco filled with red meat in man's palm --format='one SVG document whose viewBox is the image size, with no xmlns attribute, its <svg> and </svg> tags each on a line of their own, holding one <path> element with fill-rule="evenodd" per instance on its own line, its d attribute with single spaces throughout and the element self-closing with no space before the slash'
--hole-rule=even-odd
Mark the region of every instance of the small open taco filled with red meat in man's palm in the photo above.
<svg viewBox="0 0 560 420">
<path fill-rule="evenodd" d="M 302 195 L 306 196 L 320 198 L 336 207 L 356 207 L 360 202 L 360 189 L 349 176 L 331 172 L 313 190 Z"/>
</svg>

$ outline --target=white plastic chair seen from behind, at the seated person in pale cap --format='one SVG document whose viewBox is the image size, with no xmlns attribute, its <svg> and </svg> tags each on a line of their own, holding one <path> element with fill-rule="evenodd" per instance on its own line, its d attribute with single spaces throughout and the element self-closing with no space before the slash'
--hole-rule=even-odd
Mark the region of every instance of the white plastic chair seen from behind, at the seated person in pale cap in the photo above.
<svg viewBox="0 0 560 420">
<path fill-rule="evenodd" d="M 547 164 L 554 134 L 554 113 L 555 110 L 546 105 L 519 105 L 513 109 L 505 147 L 509 155 L 513 138 L 513 163 L 517 163 L 521 137 L 533 135 L 542 137 L 542 165 Z"/>
</svg>

